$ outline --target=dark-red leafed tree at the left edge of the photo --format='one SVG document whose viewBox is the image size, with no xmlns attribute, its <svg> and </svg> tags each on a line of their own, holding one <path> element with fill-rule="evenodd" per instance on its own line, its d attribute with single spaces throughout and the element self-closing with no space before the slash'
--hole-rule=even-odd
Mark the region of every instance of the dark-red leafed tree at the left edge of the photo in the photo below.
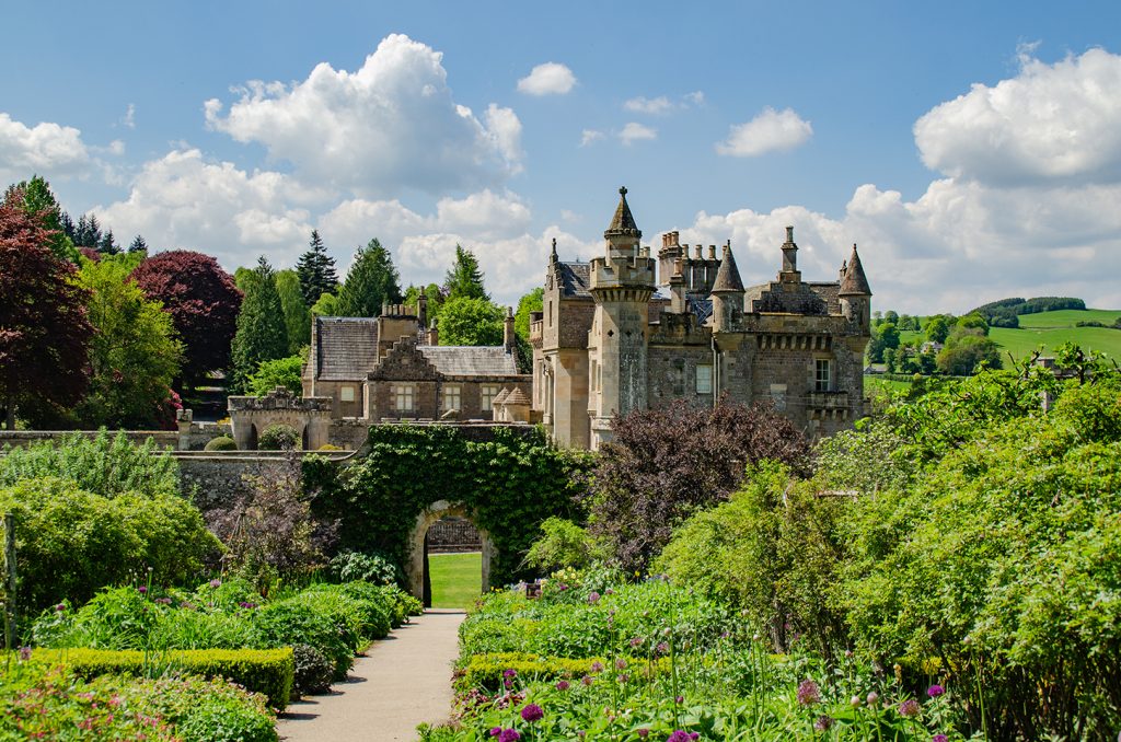
<svg viewBox="0 0 1121 742">
<path fill-rule="evenodd" d="M 9 429 L 25 405 L 68 407 L 89 384 L 90 291 L 48 247 L 55 236 L 22 207 L 0 204 L 0 405 Z"/>
</svg>

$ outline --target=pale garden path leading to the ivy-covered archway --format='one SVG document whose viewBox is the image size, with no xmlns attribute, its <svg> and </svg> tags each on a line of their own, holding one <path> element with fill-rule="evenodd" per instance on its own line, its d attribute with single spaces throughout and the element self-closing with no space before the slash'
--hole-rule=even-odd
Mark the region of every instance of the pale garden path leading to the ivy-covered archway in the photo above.
<svg viewBox="0 0 1121 742">
<path fill-rule="evenodd" d="M 447 721 L 463 611 L 428 609 L 358 658 L 326 696 L 294 702 L 277 731 L 290 742 L 415 740 L 416 725 Z"/>
</svg>

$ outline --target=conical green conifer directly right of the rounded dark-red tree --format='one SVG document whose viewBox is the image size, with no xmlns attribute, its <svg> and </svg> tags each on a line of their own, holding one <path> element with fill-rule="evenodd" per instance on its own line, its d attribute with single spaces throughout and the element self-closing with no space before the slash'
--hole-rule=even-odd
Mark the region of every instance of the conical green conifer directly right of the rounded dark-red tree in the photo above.
<svg viewBox="0 0 1121 742">
<path fill-rule="evenodd" d="M 233 336 L 233 372 L 231 389 L 244 392 L 251 377 L 263 361 L 288 355 L 288 330 L 277 291 L 276 271 L 261 256 L 257 268 L 244 275 L 245 296 L 238 315 L 238 332 Z"/>
</svg>

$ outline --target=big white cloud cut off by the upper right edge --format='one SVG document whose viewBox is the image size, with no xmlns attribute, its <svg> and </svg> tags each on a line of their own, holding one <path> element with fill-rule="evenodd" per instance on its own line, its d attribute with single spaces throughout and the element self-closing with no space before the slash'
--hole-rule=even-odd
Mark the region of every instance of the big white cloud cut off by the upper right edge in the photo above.
<svg viewBox="0 0 1121 742">
<path fill-rule="evenodd" d="M 1091 49 L 1048 65 L 1030 50 L 1015 77 L 975 84 L 915 123 L 923 161 L 990 184 L 1121 180 L 1121 56 Z"/>
</svg>

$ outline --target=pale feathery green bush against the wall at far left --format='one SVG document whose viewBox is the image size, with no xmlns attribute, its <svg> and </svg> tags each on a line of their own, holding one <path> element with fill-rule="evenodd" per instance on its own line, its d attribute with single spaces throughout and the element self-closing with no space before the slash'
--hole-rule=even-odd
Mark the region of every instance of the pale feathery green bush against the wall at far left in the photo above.
<svg viewBox="0 0 1121 742">
<path fill-rule="evenodd" d="M 152 438 L 137 445 L 123 432 L 110 437 L 104 428 L 93 438 L 73 433 L 26 448 L 6 446 L 0 456 L 0 486 L 55 476 L 104 498 L 126 492 L 179 494 L 179 465 L 170 456 L 156 455 L 158 452 Z"/>
</svg>

